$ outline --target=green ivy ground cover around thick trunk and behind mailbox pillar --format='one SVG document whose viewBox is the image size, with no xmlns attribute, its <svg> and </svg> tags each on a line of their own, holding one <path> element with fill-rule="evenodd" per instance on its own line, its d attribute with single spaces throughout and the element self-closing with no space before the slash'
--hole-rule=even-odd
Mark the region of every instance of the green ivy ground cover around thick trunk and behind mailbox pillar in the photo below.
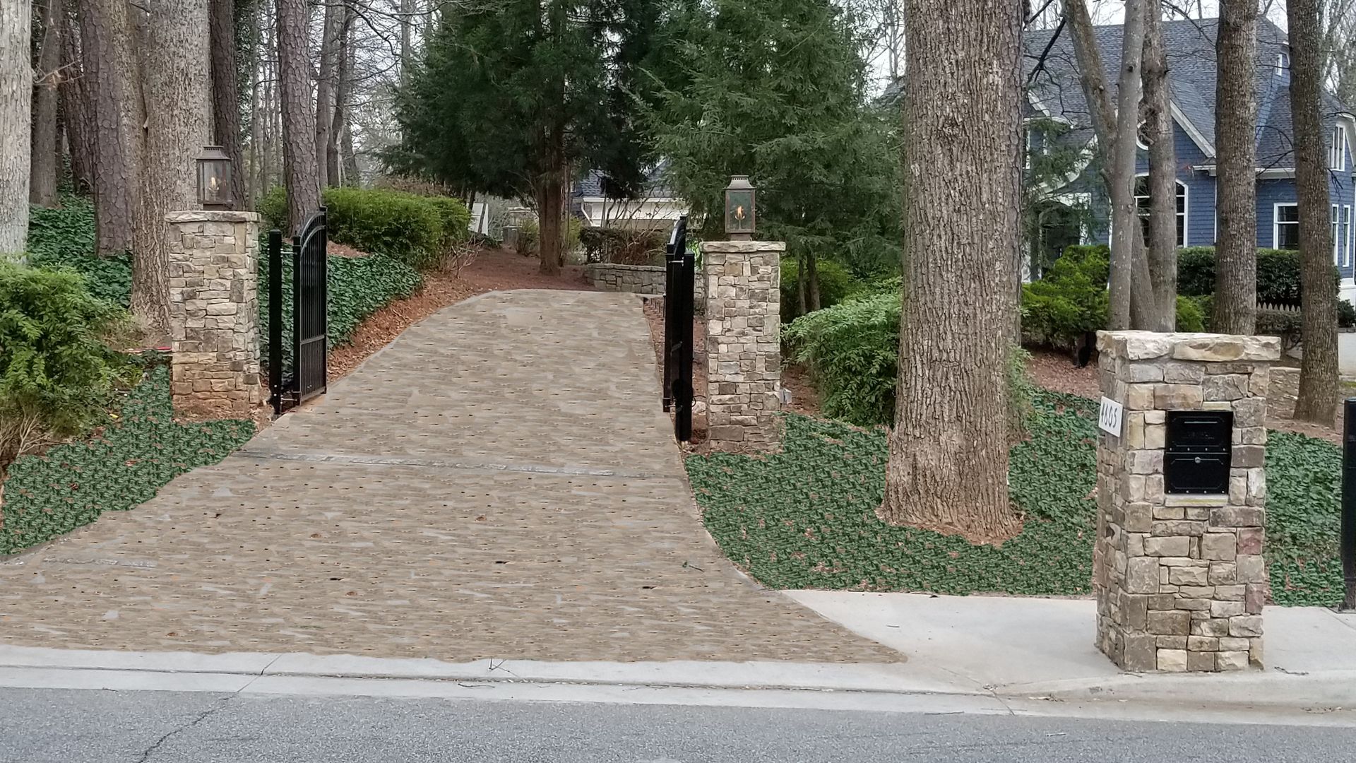
<svg viewBox="0 0 1356 763">
<path fill-rule="evenodd" d="M 883 429 L 788 415 L 781 453 L 693 456 L 687 474 L 725 555 L 773 588 L 1090 593 L 1096 403 L 1040 392 L 1035 409 L 1031 437 L 1010 453 L 1012 497 L 1026 523 L 1001 547 L 880 521 Z M 1341 597 L 1338 462 L 1329 443 L 1272 434 L 1268 534 L 1279 604 Z"/>
</svg>

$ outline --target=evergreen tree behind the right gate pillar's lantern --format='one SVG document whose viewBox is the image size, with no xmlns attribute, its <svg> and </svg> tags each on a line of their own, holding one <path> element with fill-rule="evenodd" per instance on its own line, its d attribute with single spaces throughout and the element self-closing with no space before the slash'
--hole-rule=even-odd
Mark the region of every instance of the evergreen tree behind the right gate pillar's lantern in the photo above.
<svg viewBox="0 0 1356 763">
<path fill-rule="evenodd" d="M 899 266 L 898 111 L 866 102 L 861 30 L 831 0 L 687 0 L 666 24 L 650 113 L 667 182 L 708 236 L 731 175 L 758 186 L 758 225 L 804 262 Z"/>
</svg>

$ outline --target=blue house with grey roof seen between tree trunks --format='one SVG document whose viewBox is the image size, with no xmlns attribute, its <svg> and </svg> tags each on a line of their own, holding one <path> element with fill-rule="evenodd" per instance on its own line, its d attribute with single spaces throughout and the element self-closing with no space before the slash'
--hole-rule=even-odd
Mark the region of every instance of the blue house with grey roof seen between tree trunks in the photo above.
<svg viewBox="0 0 1356 763">
<path fill-rule="evenodd" d="M 1215 217 L 1215 30 L 1218 19 L 1172 20 L 1163 24 L 1172 87 L 1173 138 L 1177 153 L 1177 243 L 1214 246 Z M 1113 90 L 1120 68 L 1121 27 L 1094 29 L 1106 81 Z M 1024 60 L 1031 81 L 1026 107 L 1028 167 L 1070 148 L 1079 160 L 1069 164 L 1062 182 L 1043 187 L 1031 253 L 1048 255 L 1069 243 L 1106 243 L 1109 205 L 1092 167 L 1096 140 L 1078 83 L 1070 35 L 1050 45 L 1052 30 L 1025 35 Z M 1047 50 L 1048 53 L 1043 56 Z M 1291 141 L 1290 46 L 1285 33 L 1268 20 L 1258 24 L 1257 49 L 1257 246 L 1298 248 L 1299 213 L 1295 155 Z M 1356 301 L 1356 117 L 1351 106 L 1325 94 L 1333 262 L 1341 272 L 1341 296 Z M 1140 204 L 1147 206 L 1149 151 L 1140 144 L 1136 171 Z M 1088 213 L 1073 215 L 1078 208 Z M 1078 223 L 1070 224 L 1070 221 Z M 1092 220 L 1089 223 L 1088 220 Z M 1039 259 L 1039 258 L 1037 258 Z M 1047 259 L 1048 262 L 1048 259 Z"/>
</svg>

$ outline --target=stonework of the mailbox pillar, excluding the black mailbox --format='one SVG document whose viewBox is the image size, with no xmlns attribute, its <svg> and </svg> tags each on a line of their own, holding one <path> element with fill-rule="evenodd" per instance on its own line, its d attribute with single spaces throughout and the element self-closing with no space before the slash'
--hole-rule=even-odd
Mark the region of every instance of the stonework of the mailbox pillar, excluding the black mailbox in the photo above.
<svg viewBox="0 0 1356 763">
<path fill-rule="evenodd" d="M 1097 648 L 1127 671 L 1261 665 L 1267 383 L 1273 337 L 1102 331 L 1102 395 L 1121 434 L 1097 445 Z M 1172 410 L 1234 411 L 1229 493 L 1166 494 Z"/>
</svg>

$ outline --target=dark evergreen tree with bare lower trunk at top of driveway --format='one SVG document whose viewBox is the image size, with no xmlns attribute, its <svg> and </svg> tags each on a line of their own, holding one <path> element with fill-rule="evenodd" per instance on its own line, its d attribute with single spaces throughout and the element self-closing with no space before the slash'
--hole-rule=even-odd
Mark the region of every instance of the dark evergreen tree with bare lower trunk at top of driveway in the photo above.
<svg viewBox="0 0 1356 763">
<path fill-rule="evenodd" d="M 449 8 L 401 88 L 403 140 L 388 164 L 533 200 L 541 270 L 559 270 L 571 174 L 599 167 L 620 189 L 639 186 L 643 151 L 626 92 L 656 23 L 644 0 Z"/>
</svg>

